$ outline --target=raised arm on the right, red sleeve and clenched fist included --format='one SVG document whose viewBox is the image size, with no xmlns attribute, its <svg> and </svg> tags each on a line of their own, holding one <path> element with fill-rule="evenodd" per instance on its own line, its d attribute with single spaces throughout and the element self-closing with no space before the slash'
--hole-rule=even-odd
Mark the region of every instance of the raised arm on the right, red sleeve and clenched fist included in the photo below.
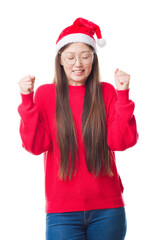
<svg viewBox="0 0 156 240">
<path fill-rule="evenodd" d="M 135 104 L 129 99 L 129 75 L 117 69 L 115 77 L 117 90 L 109 85 L 110 99 L 106 109 L 107 143 L 111 150 L 123 151 L 134 146 L 138 139 Z"/>
</svg>

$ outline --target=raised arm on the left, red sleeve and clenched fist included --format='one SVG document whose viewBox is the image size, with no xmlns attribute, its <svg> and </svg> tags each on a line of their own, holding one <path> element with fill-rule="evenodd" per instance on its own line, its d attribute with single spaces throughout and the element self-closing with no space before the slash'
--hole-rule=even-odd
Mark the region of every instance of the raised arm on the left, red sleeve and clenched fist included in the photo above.
<svg viewBox="0 0 156 240">
<path fill-rule="evenodd" d="M 39 155 L 48 151 L 50 134 L 45 121 L 44 109 L 40 103 L 41 90 L 38 88 L 34 96 L 35 77 L 26 76 L 19 81 L 22 103 L 18 107 L 21 116 L 20 136 L 22 146 L 30 153 Z"/>
</svg>

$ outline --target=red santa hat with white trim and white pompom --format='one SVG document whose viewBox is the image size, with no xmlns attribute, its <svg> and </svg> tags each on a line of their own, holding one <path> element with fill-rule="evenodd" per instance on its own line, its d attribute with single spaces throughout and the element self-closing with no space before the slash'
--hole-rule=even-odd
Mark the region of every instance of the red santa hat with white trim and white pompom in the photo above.
<svg viewBox="0 0 156 240">
<path fill-rule="evenodd" d="M 106 40 L 102 38 L 98 25 L 84 18 L 77 18 L 73 25 L 65 28 L 56 41 L 56 51 L 72 42 L 83 42 L 91 45 L 96 51 L 96 41 L 93 35 L 96 33 L 97 45 L 104 47 Z"/>
</svg>

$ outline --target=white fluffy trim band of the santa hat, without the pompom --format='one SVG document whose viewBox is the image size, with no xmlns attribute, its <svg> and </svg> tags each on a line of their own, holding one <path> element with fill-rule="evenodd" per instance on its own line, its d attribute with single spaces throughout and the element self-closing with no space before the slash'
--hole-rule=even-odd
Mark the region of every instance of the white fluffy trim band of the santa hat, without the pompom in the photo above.
<svg viewBox="0 0 156 240">
<path fill-rule="evenodd" d="M 91 45 L 95 51 L 96 49 L 96 42 L 94 41 L 93 38 L 91 38 L 90 36 L 83 34 L 83 33 L 72 33 L 69 34 L 65 37 L 63 37 L 57 44 L 56 44 L 56 52 L 59 52 L 59 50 L 64 47 L 65 45 L 67 45 L 68 43 L 72 43 L 72 42 L 84 42 L 86 44 Z"/>
</svg>

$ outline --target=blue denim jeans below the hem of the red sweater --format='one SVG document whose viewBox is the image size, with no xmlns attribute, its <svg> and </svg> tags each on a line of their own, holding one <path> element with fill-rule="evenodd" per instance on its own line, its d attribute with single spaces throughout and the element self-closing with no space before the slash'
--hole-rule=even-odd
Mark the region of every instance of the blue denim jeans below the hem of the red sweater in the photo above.
<svg viewBox="0 0 156 240">
<path fill-rule="evenodd" d="M 125 208 L 46 214 L 46 240 L 124 240 Z"/>
</svg>

